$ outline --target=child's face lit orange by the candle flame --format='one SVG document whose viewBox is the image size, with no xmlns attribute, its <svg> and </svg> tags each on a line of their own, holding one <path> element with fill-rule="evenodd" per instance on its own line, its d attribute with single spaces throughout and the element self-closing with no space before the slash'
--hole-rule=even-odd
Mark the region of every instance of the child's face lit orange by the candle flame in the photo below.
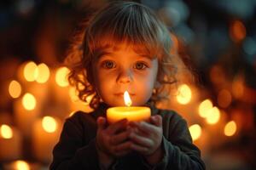
<svg viewBox="0 0 256 170">
<path fill-rule="evenodd" d="M 120 46 L 97 60 L 94 77 L 97 93 L 111 106 L 125 105 L 127 90 L 132 105 L 144 105 L 150 99 L 158 71 L 158 59 L 135 53 Z"/>
</svg>

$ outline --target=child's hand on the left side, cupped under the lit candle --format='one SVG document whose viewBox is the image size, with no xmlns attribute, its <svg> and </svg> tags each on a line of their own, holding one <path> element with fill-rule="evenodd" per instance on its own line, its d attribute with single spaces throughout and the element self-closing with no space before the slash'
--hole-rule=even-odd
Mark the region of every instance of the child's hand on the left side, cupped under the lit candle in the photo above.
<svg viewBox="0 0 256 170">
<path fill-rule="evenodd" d="M 125 156 L 131 151 L 131 142 L 127 141 L 130 134 L 126 130 L 127 120 L 107 126 L 107 120 L 99 117 L 97 125 L 96 144 L 100 151 L 112 157 Z"/>
</svg>

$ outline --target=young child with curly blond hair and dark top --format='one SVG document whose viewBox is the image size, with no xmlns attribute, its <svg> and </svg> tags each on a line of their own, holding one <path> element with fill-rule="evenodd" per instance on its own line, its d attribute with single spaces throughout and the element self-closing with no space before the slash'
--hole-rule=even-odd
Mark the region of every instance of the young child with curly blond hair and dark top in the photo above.
<svg viewBox="0 0 256 170">
<path fill-rule="evenodd" d="M 172 41 L 155 14 L 138 3 L 109 3 L 76 40 L 69 82 L 80 99 L 94 95 L 95 111 L 67 118 L 50 169 L 205 169 L 185 120 L 154 106 L 175 82 Z M 132 105 L 151 108 L 148 121 L 108 124 L 106 110 L 125 105 L 125 90 Z"/>
</svg>

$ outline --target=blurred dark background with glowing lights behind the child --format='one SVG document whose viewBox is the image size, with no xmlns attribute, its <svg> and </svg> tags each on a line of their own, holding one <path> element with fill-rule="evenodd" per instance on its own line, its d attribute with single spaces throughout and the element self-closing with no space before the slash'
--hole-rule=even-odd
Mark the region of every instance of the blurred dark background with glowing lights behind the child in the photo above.
<svg viewBox="0 0 256 170">
<path fill-rule="evenodd" d="M 48 169 L 65 119 L 91 111 L 61 63 L 79 21 L 108 2 L 1 1 L 0 169 Z M 159 107 L 187 120 L 207 169 L 255 169 L 256 1 L 136 2 L 166 22 L 191 71 Z"/>
</svg>

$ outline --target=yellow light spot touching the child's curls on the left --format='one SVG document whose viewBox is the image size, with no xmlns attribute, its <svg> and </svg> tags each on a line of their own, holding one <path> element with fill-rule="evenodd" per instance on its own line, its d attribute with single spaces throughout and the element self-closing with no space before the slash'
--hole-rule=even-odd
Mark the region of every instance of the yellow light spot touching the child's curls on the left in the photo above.
<svg viewBox="0 0 256 170">
<path fill-rule="evenodd" d="M 55 82 L 61 87 L 67 87 L 67 75 L 69 73 L 69 69 L 67 67 L 61 67 L 56 71 Z"/>
</svg>

